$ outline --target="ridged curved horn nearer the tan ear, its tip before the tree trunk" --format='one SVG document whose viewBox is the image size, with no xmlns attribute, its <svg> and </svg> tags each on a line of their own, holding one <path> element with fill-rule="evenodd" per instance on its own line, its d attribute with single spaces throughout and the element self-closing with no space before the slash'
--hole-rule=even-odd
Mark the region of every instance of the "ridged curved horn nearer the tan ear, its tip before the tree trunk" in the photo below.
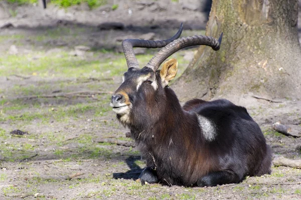
<svg viewBox="0 0 301 200">
<path fill-rule="evenodd" d="M 181 48 L 187 46 L 194 46 L 194 45 L 207 45 L 213 48 L 213 50 L 218 50 L 220 48 L 222 42 L 223 33 L 217 40 L 214 37 L 204 36 L 204 35 L 195 35 L 195 36 L 188 36 L 188 37 L 181 37 L 179 39 L 174 40 L 173 42 L 166 45 L 162 48 L 156 55 L 149 60 L 146 64 L 147 67 L 152 68 L 154 71 L 157 71 L 159 66 L 173 53 L 177 52 Z"/>
</svg>

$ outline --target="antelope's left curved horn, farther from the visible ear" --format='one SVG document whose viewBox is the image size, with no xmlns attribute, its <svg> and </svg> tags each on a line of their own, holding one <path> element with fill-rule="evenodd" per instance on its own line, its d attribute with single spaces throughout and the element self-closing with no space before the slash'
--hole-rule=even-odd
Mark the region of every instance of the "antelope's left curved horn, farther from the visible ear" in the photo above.
<svg viewBox="0 0 301 200">
<path fill-rule="evenodd" d="M 122 41 L 122 49 L 125 55 L 127 67 L 139 67 L 138 61 L 135 57 L 133 47 L 145 47 L 145 48 L 161 48 L 180 37 L 183 30 L 183 23 L 181 23 L 178 32 L 169 39 L 166 40 L 144 40 L 144 39 L 124 39 Z"/>
</svg>

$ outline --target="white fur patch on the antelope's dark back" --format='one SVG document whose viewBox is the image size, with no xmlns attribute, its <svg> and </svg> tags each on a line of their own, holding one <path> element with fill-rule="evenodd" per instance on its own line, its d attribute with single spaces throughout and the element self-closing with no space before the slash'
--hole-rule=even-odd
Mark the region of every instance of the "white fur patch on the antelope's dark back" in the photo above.
<svg viewBox="0 0 301 200">
<path fill-rule="evenodd" d="M 200 114 L 197 114 L 197 117 L 205 139 L 213 141 L 217 134 L 214 122 Z"/>
</svg>

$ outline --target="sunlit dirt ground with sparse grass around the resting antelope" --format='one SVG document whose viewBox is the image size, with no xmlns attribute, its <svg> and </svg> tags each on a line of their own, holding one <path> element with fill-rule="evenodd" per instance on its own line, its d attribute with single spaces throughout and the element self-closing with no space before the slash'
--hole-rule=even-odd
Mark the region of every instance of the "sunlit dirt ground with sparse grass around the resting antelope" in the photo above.
<svg viewBox="0 0 301 200">
<path fill-rule="evenodd" d="M 0 26 L 12 23 L 0 29 L 0 199 L 301 199 L 301 169 L 285 166 L 216 187 L 135 181 L 143 159 L 109 106 L 126 70 L 121 40 L 166 38 L 180 21 L 182 35 L 204 33 L 204 5 L 194 10 L 181 2 L 116 0 L 116 10 L 109 1 L 92 11 L 0 2 Z M 100 30 L 106 21 L 124 28 Z M 173 56 L 177 76 L 193 50 Z M 138 49 L 141 65 L 154 52 Z M 239 104 L 258 122 L 274 156 L 301 159 L 301 137 L 271 128 L 278 120 L 300 126 L 301 101 L 245 99 Z M 11 133 L 17 129 L 26 133 Z"/>
</svg>

